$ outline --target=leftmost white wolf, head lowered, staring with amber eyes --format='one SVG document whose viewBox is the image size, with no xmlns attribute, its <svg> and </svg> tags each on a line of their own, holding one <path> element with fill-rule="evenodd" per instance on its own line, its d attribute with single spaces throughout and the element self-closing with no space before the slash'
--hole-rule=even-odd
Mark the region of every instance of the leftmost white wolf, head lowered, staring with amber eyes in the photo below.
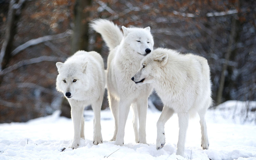
<svg viewBox="0 0 256 160">
<path fill-rule="evenodd" d="M 74 139 L 70 148 L 84 139 L 84 107 L 92 105 L 94 112 L 93 143 L 102 143 L 100 108 L 105 90 L 103 59 L 97 52 L 78 51 L 64 63 L 57 62 L 59 75 L 56 89 L 62 92 L 71 106 Z"/>
</svg>

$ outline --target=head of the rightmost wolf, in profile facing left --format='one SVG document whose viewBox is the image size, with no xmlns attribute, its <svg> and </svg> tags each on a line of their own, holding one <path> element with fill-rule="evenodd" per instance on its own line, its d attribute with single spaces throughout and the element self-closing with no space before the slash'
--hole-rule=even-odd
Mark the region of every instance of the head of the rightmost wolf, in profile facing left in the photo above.
<svg viewBox="0 0 256 160">
<path fill-rule="evenodd" d="M 165 49 L 156 49 L 141 61 L 140 69 L 132 77 L 135 84 L 153 83 L 156 77 L 159 77 L 159 69 L 166 66 L 168 54 Z"/>
</svg>

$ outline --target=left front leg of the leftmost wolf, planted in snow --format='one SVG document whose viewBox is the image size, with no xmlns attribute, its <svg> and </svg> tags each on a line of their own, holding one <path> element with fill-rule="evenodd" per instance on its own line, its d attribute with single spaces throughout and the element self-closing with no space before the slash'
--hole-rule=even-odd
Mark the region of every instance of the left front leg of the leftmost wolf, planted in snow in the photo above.
<svg viewBox="0 0 256 160">
<path fill-rule="evenodd" d="M 74 124 L 74 138 L 70 148 L 76 149 L 79 146 L 81 135 L 81 119 L 84 116 L 84 108 L 80 106 L 71 105 L 71 118 Z"/>
</svg>

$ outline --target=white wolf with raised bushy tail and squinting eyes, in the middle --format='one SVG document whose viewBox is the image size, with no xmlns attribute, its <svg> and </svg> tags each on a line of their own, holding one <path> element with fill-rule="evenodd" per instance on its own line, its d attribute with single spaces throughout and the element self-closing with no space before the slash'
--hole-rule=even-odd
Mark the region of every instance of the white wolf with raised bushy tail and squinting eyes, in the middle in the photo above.
<svg viewBox="0 0 256 160">
<path fill-rule="evenodd" d="M 147 143 L 146 114 L 148 96 L 152 87 L 150 84 L 135 85 L 131 77 L 140 68 L 140 61 L 153 50 L 154 41 L 150 27 L 126 28 L 122 26 L 124 35 L 113 22 L 108 20 L 94 20 L 91 27 L 101 34 L 110 51 L 107 88 L 109 106 L 115 119 L 115 131 L 111 140 L 116 140 L 116 145 L 124 144 L 125 123 L 132 105 L 135 141 Z"/>
</svg>

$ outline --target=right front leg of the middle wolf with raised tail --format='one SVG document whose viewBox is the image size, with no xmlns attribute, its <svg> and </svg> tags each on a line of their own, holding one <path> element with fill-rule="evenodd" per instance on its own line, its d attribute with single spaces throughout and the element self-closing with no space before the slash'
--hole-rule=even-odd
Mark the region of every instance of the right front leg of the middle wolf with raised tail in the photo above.
<svg viewBox="0 0 256 160">
<path fill-rule="evenodd" d="M 144 97 L 137 101 L 137 109 L 139 116 L 139 140 L 138 143 L 147 143 L 146 140 L 146 119 L 148 109 L 148 97 Z"/>
</svg>

